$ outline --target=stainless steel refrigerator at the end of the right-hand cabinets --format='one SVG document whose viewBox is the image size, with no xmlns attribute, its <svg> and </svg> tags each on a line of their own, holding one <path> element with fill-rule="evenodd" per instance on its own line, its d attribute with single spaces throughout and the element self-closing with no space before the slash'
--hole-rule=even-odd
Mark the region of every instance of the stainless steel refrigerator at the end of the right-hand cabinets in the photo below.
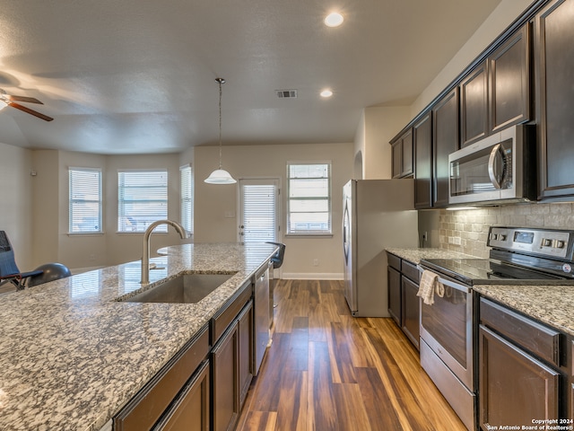
<svg viewBox="0 0 574 431">
<path fill-rule="evenodd" d="M 418 247 L 413 180 L 343 188 L 344 295 L 353 316 L 388 317 L 387 247 Z"/>
</svg>

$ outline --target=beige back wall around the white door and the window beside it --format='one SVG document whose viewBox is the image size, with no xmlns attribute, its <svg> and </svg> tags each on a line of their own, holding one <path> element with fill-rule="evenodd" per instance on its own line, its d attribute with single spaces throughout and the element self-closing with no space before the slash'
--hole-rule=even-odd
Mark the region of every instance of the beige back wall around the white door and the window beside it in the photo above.
<svg viewBox="0 0 574 431">
<path fill-rule="evenodd" d="M 219 148 L 196 147 L 196 242 L 236 242 L 238 237 L 238 186 L 205 184 L 218 166 Z M 333 164 L 333 236 L 284 237 L 287 245 L 283 277 L 343 277 L 341 220 L 343 185 L 352 178 L 353 144 L 241 145 L 223 147 L 223 168 L 240 178 L 274 177 L 281 180 L 281 229 L 285 228 L 286 171 L 289 161 L 326 161 Z M 232 213 L 233 217 L 226 217 Z M 318 266 L 313 266 L 318 259 Z"/>
</svg>

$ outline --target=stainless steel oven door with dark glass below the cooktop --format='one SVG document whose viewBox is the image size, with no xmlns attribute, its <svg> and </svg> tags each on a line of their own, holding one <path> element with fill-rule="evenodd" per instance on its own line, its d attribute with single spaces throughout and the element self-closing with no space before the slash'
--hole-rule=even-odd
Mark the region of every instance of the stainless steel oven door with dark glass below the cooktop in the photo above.
<svg viewBox="0 0 574 431">
<path fill-rule="evenodd" d="M 421 306 L 421 339 L 469 391 L 474 392 L 473 291 L 445 277 L 444 295 Z"/>
</svg>

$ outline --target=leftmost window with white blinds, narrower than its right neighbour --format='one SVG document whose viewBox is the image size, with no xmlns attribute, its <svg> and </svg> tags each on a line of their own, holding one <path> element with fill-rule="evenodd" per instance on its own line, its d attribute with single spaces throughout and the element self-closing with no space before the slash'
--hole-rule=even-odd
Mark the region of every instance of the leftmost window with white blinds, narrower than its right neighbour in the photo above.
<svg viewBox="0 0 574 431">
<path fill-rule="evenodd" d="M 70 168 L 69 233 L 102 233 L 101 171 Z"/>
</svg>

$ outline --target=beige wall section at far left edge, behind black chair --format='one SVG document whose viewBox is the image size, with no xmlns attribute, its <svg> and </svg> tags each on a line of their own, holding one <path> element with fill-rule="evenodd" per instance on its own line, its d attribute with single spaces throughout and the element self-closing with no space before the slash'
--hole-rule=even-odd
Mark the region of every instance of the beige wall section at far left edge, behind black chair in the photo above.
<svg viewBox="0 0 574 431">
<path fill-rule="evenodd" d="M 0 230 L 8 235 L 21 271 L 35 268 L 32 259 L 31 151 L 0 143 Z"/>
</svg>

